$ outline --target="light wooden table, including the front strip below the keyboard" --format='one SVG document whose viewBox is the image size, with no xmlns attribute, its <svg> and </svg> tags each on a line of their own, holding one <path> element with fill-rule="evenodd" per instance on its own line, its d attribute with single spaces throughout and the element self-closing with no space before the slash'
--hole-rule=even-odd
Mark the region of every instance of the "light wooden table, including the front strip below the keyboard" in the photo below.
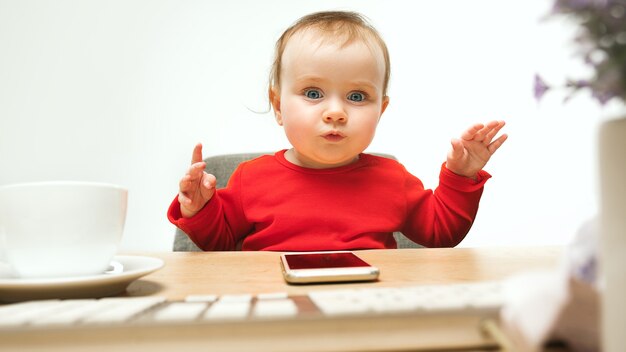
<svg viewBox="0 0 626 352">
<path fill-rule="evenodd" d="M 162 258 L 165 266 L 133 282 L 123 296 L 287 292 L 354 287 L 399 287 L 502 280 L 527 270 L 555 268 L 562 247 L 366 250 L 357 254 L 380 269 L 372 283 L 288 285 L 277 252 L 130 253 Z M 493 349 L 480 318 L 385 315 L 307 318 L 204 325 L 16 332 L 0 351 L 378 351 Z"/>
</svg>

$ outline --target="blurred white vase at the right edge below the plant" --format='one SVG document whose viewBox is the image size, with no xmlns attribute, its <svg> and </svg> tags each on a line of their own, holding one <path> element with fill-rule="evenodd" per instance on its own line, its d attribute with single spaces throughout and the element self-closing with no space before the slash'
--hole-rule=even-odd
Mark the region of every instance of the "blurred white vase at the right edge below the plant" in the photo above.
<svg viewBox="0 0 626 352">
<path fill-rule="evenodd" d="M 626 116 L 599 131 L 602 349 L 626 351 Z"/>
</svg>

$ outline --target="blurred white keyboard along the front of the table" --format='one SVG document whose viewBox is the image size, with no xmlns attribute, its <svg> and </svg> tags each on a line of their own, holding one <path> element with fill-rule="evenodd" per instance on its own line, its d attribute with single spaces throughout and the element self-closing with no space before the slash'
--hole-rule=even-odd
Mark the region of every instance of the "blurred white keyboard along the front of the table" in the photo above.
<svg viewBox="0 0 626 352">
<path fill-rule="evenodd" d="M 493 317 L 502 305 L 501 284 L 483 282 L 399 288 L 356 288 L 286 293 L 112 297 L 28 301 L 0 305 L 0 337 L 32 329 L 215 324 L 265 319 L 333 319 L 350 316 L 464 314 Z"/>
</svg>

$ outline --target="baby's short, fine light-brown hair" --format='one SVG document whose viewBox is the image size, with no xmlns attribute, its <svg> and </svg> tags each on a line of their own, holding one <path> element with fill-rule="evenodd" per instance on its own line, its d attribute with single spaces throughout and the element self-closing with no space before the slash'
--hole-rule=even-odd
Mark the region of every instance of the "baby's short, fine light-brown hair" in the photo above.
<svg viewBox="0 0 626 352">
<path fill-rule="evenodd" d="M 318 30 L 326 39 L 343 40 L 341 46 L 346 46 L 355 40 L 362 40 L 366 44 L 374 42 L 380 46 L 385 59 L 385 78 L 383 82 L 383 96 L 387 96 L 387 85 L 390 76 L 390 61 L 387 45 L 378 31 L 361 14 L 349 11 L 325 11 L 316 12 L 300 18 L 276 41 L 274 51 L 274 63 L 270 71 L 269 94 L 272 89 L 280 91 L 280 71 L 282 68 L 282 56 L 289 39 L 296 33 L 307 29 Z M 271 99 L 271 98 L 270 98 Z"/>
</svg>

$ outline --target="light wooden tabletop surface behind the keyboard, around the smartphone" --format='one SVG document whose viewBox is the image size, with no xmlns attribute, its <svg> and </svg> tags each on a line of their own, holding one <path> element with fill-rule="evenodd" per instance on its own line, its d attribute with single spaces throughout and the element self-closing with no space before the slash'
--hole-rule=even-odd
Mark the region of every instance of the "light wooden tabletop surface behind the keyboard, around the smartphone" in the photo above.
<svg viewBox="0 0 626 352">
<path fill-rule="evenodd" d="M 551 268 L 561 247 L 484 247 L 365 250 L 357 254 L 380 269 L 375 283 L 341 287 L 408 286 L 501 280 L 535 269 Z M 190 294 L 287 292 L 335 289 L 337 285 L 288 285 L 278 252 L 134 253 L 162 258 L 165 266 L 131 284 L 129 296 L 162 295 L 183 299 Z"/>
</svg>

